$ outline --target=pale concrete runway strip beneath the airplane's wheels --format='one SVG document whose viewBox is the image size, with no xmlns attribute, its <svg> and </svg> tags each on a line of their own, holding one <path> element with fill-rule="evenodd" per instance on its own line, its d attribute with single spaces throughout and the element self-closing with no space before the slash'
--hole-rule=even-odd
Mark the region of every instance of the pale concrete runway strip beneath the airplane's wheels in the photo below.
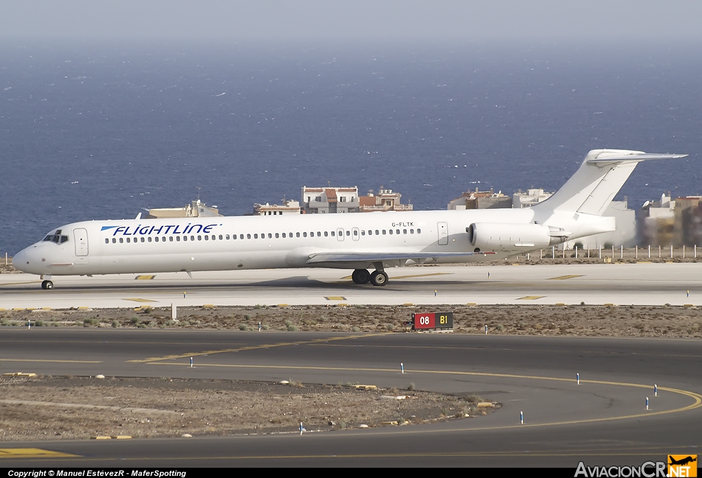
<svg viewBox="0 0 702 478">
<path fill-rule="evenodd" d="M 350 271 L 279 269 L 54 277 L 0 275 L 0 308 L 309 304 L 702 305 L 702 264 L 425 266 L 388 269 L 385 287 L 354 285 Z"/>
</svg>

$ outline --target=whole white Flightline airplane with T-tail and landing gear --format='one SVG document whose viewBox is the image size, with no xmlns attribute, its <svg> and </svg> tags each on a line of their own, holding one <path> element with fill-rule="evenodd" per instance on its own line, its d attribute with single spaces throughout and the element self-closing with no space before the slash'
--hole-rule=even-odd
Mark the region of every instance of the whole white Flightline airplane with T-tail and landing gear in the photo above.
<svg viewBox="0 0 702 478">
<path fill-rule="evenodd" d="M 684 156 L 595 149 L 553 196 L 524 209 L 76 222 L 13 264 L 41 275 L 43 289 L 53 275 L 293 267 L 353 269 L 356 284 L 381 286 L 389 267 L 494 261 L 614 231 L 602 212 L 636 165 Z"/>
</svg>

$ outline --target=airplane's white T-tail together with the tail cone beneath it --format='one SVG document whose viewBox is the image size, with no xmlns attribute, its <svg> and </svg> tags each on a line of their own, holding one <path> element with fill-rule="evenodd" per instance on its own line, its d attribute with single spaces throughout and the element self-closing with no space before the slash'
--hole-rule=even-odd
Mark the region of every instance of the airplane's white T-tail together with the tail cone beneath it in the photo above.
<svg viewBox="0 0 702 478">
<path fill-rule="evenodd" d="M 602 217 L 636 165 L 653 159 L 684 158 L 687 154 L 651 154 L 625 149 L 593 149 L 561 189 L 535 205 L 537 224 L 549 226 L 560 241 L 614 231 L 614 217 Z"/>
</svg>

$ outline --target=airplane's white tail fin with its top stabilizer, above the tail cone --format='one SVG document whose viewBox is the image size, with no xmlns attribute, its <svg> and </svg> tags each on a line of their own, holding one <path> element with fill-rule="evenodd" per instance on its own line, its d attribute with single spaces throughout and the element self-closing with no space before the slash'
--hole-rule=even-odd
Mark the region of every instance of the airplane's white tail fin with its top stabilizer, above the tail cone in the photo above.
<svg viewBox="0 0 702 478">
<path fill-rule="evenodd" d="M 601 216 L 641 161 L 684 158 L 687 154 L 649 154 L 625 149 L 593 149 L 561 189 L 534 207 Z"/>
</svg>

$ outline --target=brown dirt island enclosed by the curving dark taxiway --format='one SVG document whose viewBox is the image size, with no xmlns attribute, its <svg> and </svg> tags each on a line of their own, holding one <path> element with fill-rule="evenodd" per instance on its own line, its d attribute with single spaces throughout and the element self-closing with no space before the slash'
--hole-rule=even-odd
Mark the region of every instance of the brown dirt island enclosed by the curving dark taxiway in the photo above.
<svg viewBox="0 0 702 478">
<path fill-rule="evenodd" d="M 413 385 L 408 384 L 408 388 Z M 0 441 L 419 425 L 482 416 L 477 395 L 178 378 L 0 377 Z"/>
</svg>

